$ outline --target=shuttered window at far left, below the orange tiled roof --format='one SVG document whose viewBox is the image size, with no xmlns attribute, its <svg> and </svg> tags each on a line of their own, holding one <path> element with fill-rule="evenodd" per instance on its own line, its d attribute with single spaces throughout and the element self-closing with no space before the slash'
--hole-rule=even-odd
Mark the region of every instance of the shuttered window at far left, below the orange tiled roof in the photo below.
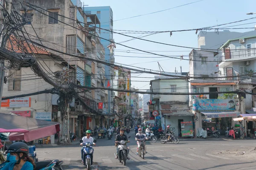
<svg viewBox="0 0 256 170">
<path fill-rule="evenodd" d="M 20 91 L 21 90 L 21 70 L 10 70 L 8 81 L 8 91 Z"/>
</svg>

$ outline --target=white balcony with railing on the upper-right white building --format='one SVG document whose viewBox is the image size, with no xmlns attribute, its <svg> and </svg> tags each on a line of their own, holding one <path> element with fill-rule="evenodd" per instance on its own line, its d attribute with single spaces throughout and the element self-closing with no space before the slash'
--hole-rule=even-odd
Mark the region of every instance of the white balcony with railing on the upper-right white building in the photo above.
<svg viewBox="0 0 256 170">
<path fill-rule="evenodd" d="M 233 62 L 237 60 L 252 60 L 256 57 L 256 48 L 250 48 L 246 50 L 239 50 L 239 51 L 230 51 L 225 50 L 223 56 L 218 58 L 219 67 L 222 65 L 222 62 Z"/>
</svg>

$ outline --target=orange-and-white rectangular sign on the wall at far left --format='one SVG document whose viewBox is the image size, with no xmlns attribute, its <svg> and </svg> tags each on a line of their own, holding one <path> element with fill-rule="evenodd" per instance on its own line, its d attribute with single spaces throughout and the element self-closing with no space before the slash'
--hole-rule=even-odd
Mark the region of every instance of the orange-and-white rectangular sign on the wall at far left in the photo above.
<svg viewBox="0 0 256 170">
<path fill-rule="evenodd" d="M 20 97 L 20 98 L 2 100 L 1 107 L 3 108 L 31 107 L 31 98 Z"/>
</svg>

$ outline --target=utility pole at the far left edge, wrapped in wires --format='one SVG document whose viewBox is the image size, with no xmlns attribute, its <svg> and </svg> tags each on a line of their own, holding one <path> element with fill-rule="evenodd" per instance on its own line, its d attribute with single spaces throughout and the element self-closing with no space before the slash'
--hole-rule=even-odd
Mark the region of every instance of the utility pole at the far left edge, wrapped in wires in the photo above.
<svg viewBox="0 0 256 170">
<path fill-rule="evenodd" d="M 1 31 L 2 34 L 0 35 L 0 43 L 1 43 L 1 47 L 5 47 L 7 40 L 5 39 L 5 34 L 8 31 L 8 27 L 6 27 L 6 29 L 3 30 L 3 25 L 5 22 L 8 22 L 8 20 L 5 20 L 3 14 L 5 13 L 5 10 L 8 12 L 8 14 L 11 14 L 11 5 L 12 5 L 12 0 L 5 0 L 5 4 L 4 4 L 4 0 L 0 1 L 1 6 L 0 6 L 0 21 L 3 23 L 1 24 Z M 3 8 L 5 6 L 5 9 Z M 0 60 L 0 101 L 2 101 L 2 96 L 3 96 L 3 84 L 4 84 L 4 60 L 1 59 Z M 0 106 L 1 108 L 1 106 Z"/>
</svg>

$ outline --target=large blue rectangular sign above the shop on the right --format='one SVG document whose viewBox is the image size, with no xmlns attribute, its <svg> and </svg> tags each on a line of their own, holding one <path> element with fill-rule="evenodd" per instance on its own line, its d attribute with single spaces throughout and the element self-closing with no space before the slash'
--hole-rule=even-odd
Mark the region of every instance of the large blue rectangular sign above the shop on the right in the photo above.
<svg viewBox="0 0 256 170">
<path fill-rule="evenodd" d="M 234 111 L 233 99 L 193 99 L 193 111 Z"/>
</svg>

